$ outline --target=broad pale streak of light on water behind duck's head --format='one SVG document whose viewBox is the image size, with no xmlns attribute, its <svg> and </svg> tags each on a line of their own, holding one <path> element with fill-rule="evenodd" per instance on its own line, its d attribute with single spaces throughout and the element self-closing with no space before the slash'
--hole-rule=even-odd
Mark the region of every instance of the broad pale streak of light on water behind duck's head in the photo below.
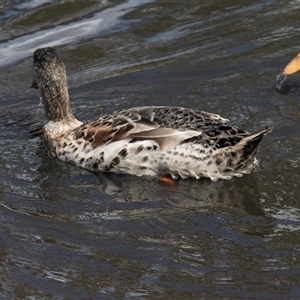
<svg viewBox="0 0 300 300">
<path fill-rule="evenodd" d="M 142 4 L 150 1 L 143 1 Z M 11 64 L 30 56 L 37 48 L 65 45 L 72 42 L 78 43 L 79 41 L 99 36 L 100 33 L 111 30 L 122 16 L 139 5 L 141 3 L 138 1 L 131 0 L 95 13 L 85 20 L 80 19 L 79 21 L 54 28 L 51 27 L 50 29 L 37 31 L 32 34 L 25 34 L 0 43 L 0 66 Z M 122 30 L 125 28 L 123 26 Z"/>
</svg>

